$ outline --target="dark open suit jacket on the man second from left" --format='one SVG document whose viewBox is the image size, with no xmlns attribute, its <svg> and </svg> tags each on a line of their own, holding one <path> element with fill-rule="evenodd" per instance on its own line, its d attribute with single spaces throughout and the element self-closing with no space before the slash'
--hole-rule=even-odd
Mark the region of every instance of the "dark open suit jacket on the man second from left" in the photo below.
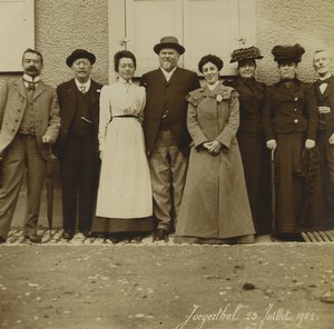
<svg viewBox="0 0 334 329">
<path fill-rule="evenodd" d="M 55 146 L 55 153 L 60 154 L 65 146 L 70 124 L 77 110 L 77 84 L 75 79 L 63 82 L 57 87 L 57 94 L 60 106 L 61 126 L 59 138 Z M 98 129 L 99 129 L 99 99 L 102 84 L 91 80 L 90 83 L 90 112 L 94 122 L 94 138 L 96 139 L 96 151 L 98 152 Z"/>
</svg>

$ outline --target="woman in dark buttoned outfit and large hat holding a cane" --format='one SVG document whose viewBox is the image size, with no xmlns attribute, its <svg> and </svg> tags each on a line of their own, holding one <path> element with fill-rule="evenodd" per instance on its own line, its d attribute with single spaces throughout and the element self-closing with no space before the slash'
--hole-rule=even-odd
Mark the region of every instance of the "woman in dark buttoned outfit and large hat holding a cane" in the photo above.
<svg viewBox="0 0 334 329">
<path fill-rule="evenodd" d="M 276 227 L 279 238 L 298 239 L 308 228 L 318 229 L 323 219 L 322 206 L 307 195 L 305 177 L 301 172 L 303 154 L 314 152 L 318 109 L 311 83 L 296 78 L 297 66 L 305 52 L 299 44 L 276 46 L 272 53 L 278 63 L 281 80 L 267 88 L 263 123 L 266 146 L 275 152 Z M 313 164 L 316 162 L 316 153 Z M 316 164 L 316 163 L 315 163 Z M 303 171 L 303 170 L 302 170 Z M 312 178 L 318 181 L 316 166 Z M 308 185 L 310 188 L 310 185 Z M 312 206 L 305 211 L 305 206 Z"/>
</svg>

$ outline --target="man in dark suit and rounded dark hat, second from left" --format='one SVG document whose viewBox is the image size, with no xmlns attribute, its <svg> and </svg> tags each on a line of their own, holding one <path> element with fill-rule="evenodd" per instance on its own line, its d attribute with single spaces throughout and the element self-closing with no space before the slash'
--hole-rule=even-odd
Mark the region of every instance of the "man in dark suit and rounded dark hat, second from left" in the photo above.
<svg viewBox="0 0 334 329">
<path fill-rule="evenodd" d="M 55 152 L 59 157 L 62 188 L 62 238 L 79 231 L 89 236 L 98 186 L 98 120 L 101 84 L 90 79 L 94 53 L 75 50 L 66 60 L 75 78 L 59 84 L 61 126 Z M 78 205 L 78 207 L 77 207 Z"/>
</svg>

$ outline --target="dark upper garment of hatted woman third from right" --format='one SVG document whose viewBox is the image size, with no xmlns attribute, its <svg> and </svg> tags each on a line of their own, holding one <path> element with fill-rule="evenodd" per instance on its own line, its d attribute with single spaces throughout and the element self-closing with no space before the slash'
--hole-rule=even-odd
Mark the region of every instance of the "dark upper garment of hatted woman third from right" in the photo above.
<svg viewBox="0 0 334 329">
<path fill-rule="evenodd" d="M 238 131 L 244 133 L 262 132 L 262 110 L 265 102 L 266 84 L 255 79 L 245 81 L 239 77 L 223 83 L 236 89 L 239 94 L 240 126 Z"/>
</svg>

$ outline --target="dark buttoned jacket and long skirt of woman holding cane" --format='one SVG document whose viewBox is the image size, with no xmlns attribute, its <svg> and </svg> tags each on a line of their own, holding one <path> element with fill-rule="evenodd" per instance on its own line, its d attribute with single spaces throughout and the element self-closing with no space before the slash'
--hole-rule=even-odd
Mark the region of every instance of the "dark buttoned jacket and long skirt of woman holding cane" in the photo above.
<svg viewBox="0 0 334 329">
<path fill-rule="evenodd" d="M 318 109 L 311 83 L 279 81 L 267 89 L 263 110 L 266 140 L 275 139 L 276 232 L 298 233 L 305 211 L 304 180 L 297 175 L 306 139 L 316 139 Z M 317 211 L 315 211 L 317 212 Z M 315 213 L 316 215 L 316 213 Z M 312 221 L 307 219 L 307 221 Z"/>
</svg>

